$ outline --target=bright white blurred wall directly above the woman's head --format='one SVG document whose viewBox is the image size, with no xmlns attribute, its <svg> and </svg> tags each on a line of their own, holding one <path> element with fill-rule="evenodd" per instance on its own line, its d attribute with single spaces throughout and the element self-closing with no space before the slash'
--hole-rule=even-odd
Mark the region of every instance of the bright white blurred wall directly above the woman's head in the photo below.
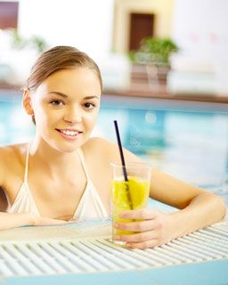
<svg viewBox="0 0 228 285">
<path fill-rule="evenodd" d="M 20 0 L 18 30 L 48 45 L 73 45 L 94 56 L 109 53 L 114 0 Z"/>
</svg>

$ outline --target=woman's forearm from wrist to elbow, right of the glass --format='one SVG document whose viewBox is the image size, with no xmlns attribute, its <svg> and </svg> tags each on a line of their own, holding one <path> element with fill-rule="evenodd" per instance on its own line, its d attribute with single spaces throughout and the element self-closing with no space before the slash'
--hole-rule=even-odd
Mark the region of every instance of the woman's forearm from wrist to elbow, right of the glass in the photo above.
<svg viewBox="0 0 228 285">
<path fill-rule="evenodd" d="M 199 230 L 220 221 L 225 215 L 223 199 L 209 192 L 202 192 L 182 210 L 170 214 L 173 238 Z"/>
</svg>

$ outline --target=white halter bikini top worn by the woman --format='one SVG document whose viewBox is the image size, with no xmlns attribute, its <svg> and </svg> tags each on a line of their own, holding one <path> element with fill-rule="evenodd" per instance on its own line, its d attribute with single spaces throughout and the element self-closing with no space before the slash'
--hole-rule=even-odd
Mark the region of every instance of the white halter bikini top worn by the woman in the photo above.
<svg viewBox="0 0 228 285">
<path fill-rule="evenodd" d="M 85 191 L 80 199 L 77 209 L 73 215 L 73 219 L 100 219 L 107 218 L 109 215 L 102 204 L 102 200 L 94 187 L 94 183 L 90 179 L 86 167 L 83 151 L 78 149 L 78 156 L 82 167 L 85 171 L 86 176 L 86 186 Z M 24 182 L 20 186 L 20 190 L 17 193 L 16 199 L 12 203 L 12 206 L 7 209 L 8 213 L 31 213 L 40 216 L 37 209 L 35 200 L 33 199 L 28 186 L 28 157 L 29 157 L 29 147 L 26 155 L 26 166 L 24 173 Z"/>
</svg>

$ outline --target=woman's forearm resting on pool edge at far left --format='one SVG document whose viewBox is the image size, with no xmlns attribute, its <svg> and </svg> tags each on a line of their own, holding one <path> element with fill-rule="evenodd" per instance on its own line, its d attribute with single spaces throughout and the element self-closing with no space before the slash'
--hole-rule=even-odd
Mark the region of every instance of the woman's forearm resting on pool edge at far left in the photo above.
<svg viewBox="0 0 228 285">
<path fill-rule="evenodd" d="M 0 231 L 23 225 L 33 225 L 34 217 L 28 213 L 10 214 L 0 212 Z"/>
</svg>

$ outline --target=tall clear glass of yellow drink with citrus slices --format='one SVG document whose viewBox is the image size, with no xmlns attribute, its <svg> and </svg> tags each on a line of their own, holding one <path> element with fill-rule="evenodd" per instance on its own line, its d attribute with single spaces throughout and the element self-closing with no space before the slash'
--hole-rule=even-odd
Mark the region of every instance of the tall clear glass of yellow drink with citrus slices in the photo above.
<svg viewBox="0 0 228 285">
<path fill-rule="evenodd" d="M 113 224 L 133 222 L 135 220 L 122 219 L 119 215 L 128 210 L 146 208 L 151 185 L 151 166 L 138 162 L 126 164 L 127 180 L 121 164 L 112 163 L 111 167 L 112 240 L 116 244 L 124 245 L 125 242 L 115 240 L 114 236 L 134 232 L 115 229 Z"/>
</svg>

